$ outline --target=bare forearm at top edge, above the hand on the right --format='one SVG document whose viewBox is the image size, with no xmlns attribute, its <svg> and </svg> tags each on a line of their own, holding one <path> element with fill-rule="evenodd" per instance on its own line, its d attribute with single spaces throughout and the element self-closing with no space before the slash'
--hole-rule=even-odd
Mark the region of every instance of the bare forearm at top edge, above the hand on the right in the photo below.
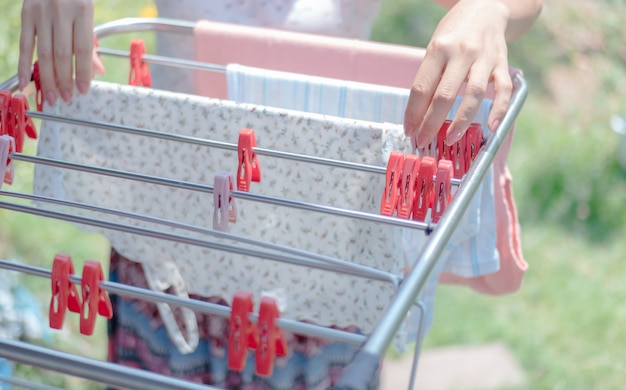
<svg viewBox="0 0 626 390">
<path fill-rule="evenodd" d="M 506 39 L 515 40 L 524 35 L 533 25 L 543 6 L 543 0 L 434 0 L 446 8 L 452 8 L 459 2 L 500 3 L 502 15 L 507 19 Z"/>
</svg>

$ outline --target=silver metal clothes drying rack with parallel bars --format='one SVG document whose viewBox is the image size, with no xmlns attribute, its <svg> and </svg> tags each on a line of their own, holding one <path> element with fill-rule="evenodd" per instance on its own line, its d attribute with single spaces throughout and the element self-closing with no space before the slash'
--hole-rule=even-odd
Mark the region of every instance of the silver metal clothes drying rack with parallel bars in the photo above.
<svg viewBox="0 0 626 390">
<path fill-rule="evenodd" d="M 168 19 L 121 19 L 118 21 L 106 23 L 96 27 L 95 34 L 98 38 L 102 39 L 108 36 L 122 34 L 122 33 L 137 33 L 137 32 L 166 32 L 190 35 L 193 34 L 195 23 L 168 20 Z M 112 50 L 100 47 L 98 51 L 102 55 L 110 55 L 117 57 L 128 58 L 129 52 Z M 194 70 L 205 70 L 213 72 L 224 72 L 225 68 L 221 65 L 207 64 L 197 61 L 175 59 L 170 57 L 156 56 L 156 55 L 143 55 L 143 60 L 146 63 L 168 65 L 175 67 L 182 67 Z M 278 319 L 277 326 L 284 330 L 288 330 L 294 333 L 316 336 L 326 338 L 335 341 L 341 341 L 358 345 L 360 347 L 352 363 L 350 363 L 345 369 L 342 376 L 342 380 L 337 388 L 340 389 L 362 389 L 365 388 L 369 380 L 369 375 L 364 373 L 374 373 L 378 369 L 380 360 L 384 357 L 388 346 L 390 345 L 393 336 L 399 330 L 407 312 L 415 305 L 415 301 L 425 286 L 425 283 L 440 259 L 441 254 L 444 251 L 444 247 L 450 240 L 456 226 L 461 221 L 468 205 L 483 181 L 489 167 L 491 166 L 494 157 L 499 150 L 500 146 L 507 137 L 511 127 L 514 124 L 515 118 L 520 112 L 526 96 L 528 94 L 528 88 L 524 78 L 516 74 L 513 79 L 514 92 L 510 101 L 509 109 L 498 125 L 498 128 L 492 132 L 492 134 L 486 139 L 483 147 L 478 153 L 474 163 L 469 171 L 464 175 L 462 179 L 453 179 L 452 184 L 457 186 L 457 190 L 451 203 L 448 205 L 445 213 L 441 219 L 432 224 L 429 222 L 416 222 L 412 220 L 399 219 L 394 217 L 387 217 L 382 215 L 375 215 L 371 213 L 365 213 L 354 210 L 341 209 L 336 207 L 314 205 L 297 200 L 290 199 L 274 199 L 271 197 L 263 197 L 261 195 L 255 195 L 251 193 L 234 191 L 233 197 L 240 197 L 242 199 L 250 199 L 261 202 L 268 202 L 270 204 L 281 204 L 288 207 L 303 208 L 310 211 L 331 213 L 334 215 L 345 216 L 348 218 L 357 218 L 370 222 L 392 224 L 394 226 L 416 228 L 425 230 L 430 234 L 430 238 L 425 244 L 419 261 L 417 261 L 413 269 L 409 270 L 404 277 L 398 275 L 392 275 L 386 272 L 370 269 L 367 267 L 359 267 L 355 264 L 347 262 L 341 262 L 335 259 L 329 259 L 325 256 L 317 255 L 315 253 L 305 252 L 294 248 L 286 248 L 278 245 L 274 245 L 267 242 L 259 242 L 245 237 L 237 237 L 229 233 L 218 232 L 210 229 L 204 229 L 201 227 L 189 226 L 176 223 L 175 221 L 160 220 L 145 215 L 132 215 L 116 210 L 101 210 L 95 206 L 89 206 L 85 204 L 73 204 L 71 202 L 64 202 L 60 200 L 47 199 L 38 197 L 36 195 L 21 194 L 15 192 L 9 192 L 2 190 L 0 196 L 5 200 L 0 200 L 0 207 L 13 210 L 22 213 L 29 213 L 39 215 L 47 218 L 55 218 L 64 221 L 70 221 L 75 223 L 82 223 L 86 225 L 99 226 L 107 229 L 121 230 L 124 232 L 144 235 L 148 237 L 154 237 L 163 240 L 171 240 L 175 242 L 187 243 L 191 245 L 198 245 L 208 248 L 216 248 L 226 251 L 234 251 L 242 255 L 249 255 L 255 257 L 268 258 L 275 261 L 289 262 L 292 264 L 306 265 L 309 267 L 315 267 L 323 270 L 329 270 L 333 272 L 344 272 L 351 275 L 357 275 L 366 278 L 372 278 L 376 280 L 382 280 L 392 283 L 397 288 L 396 294 L 393 300 L 389 303 L 386 312 L 380 317 L 380 321 L 376 325 L 373 332 L 368 335 L 353 334 L 345 331 L 325 328 L 321 326 L 312 325 L 309 323 L 303 323 L 288 319 Z M 0 90 L 16 91 L 17 89 L 17 76 L 14 76 L 5 82 L 0 84 Z M 197 145 L 207 147 L 218 147 L 230 150 L 237 150 L 236 145 L 224 144 L 220 142 L 214 142 L 205 139 L 196 139 L 193 137 L 185 137 L 180 135 L 172 135 L 166 133 L 156 133 L 148 129 L 139 129 L 123 125 L 116 125 L 110 123 L 100 123 L 92 121 L 77 120 L 72 118 L 58 117 L 55 115 L 44 114 L 34 110 L 29 110 L 26 115 L 30 118 L 60 121 L 65 123 L 72 123 L 77 125 L 92 126 L 105 130 L 122 131 L 130 134 L 139 134 L 151 137 L 162 137 L 164 139 L 189 142 Z M 306 161 L 312 163 L 326 164 L 330 166 L 338 166 L 348 169 L 360 169 L 369 172 L 385 173 L 384 167 L 367 166 L 363 164 L 356 164 L 348 161 L 338 161 L 325 159 L 315 156 L 304 156 L 292 153 L 284 153 L 280 151 L 274 151 L 269 149 L 262 149 L 256 147 L 254 151 L 259 155 L 270 155 L 278 158 L 291 159 L 297 161 Z M 213 188 L 210 186 L 203 186 L 196 183 L 179 182 L 175 180 L 168 180 L 158 177 L 147 177 L 130 172 L 114 172 L 112 170 L 106 170 L 98 167 L 76 166 L 71 163 L 63 161 L 54 161 L 42 157 L 30 156 L 23 153 L 12 153 L 10 158 L 13 161 L 19 161 L 21 163 L 33 163 L 33 164 L 46 164 L 65 169 L 78 169 L 83 171 L 92 172 L 95 174 L 113 175 L 117 177 L 124 177 L 132 180 L 138 180 L 148 183 L 160 183 L 165 185 L 171 185 L 180 188 L 187 188 L 205 192 L 212 192 Z M 192 238 L 184 234 L 174 234 L 157 229 L 139 228 L 133 226 L 125 226 L 114 222 L 105 220 L 95 220 L 84 216 L 74 215 L 72 213 L 62 213 L 57 211 L 50 211 L 45 209 L 39 209 L 24 202 L 7 201 L 6 199 L 13 200 L 28 200 L 31 202 L 56 202 L 63 206 L 78 207 L 90 209 L 93 211 L 100 211 L 105 213 L 111 213 L 112 215 L 121 215 L 129 218 L 137 218 L 138 220 L 150 221 L 157 224 L 163 224 L 163 226 L 176 227 L 179 229 L 187 229 L 196 233 L 206 234 L 207 239 Z M 252 244 L 260 249 L 248 249 L 240 248 L 236 245 L 220 245 L 212 242 L 210 237 L 222 237 L 232 239 L 237 242 Z M 261 250 L 269 249 L 273 252 L 267 252 Z M 13 261 L 0 260 L 0 268 L 5 270 L 22 272 L 29 275 L 39 276 L 43 278 L 50 278 L 51 271 L 49 269 L 33 267 L 29 265 L 15 263 Z M 71 275 L 70 281 L 72 283 L 80 283 L 81 278 L 78 275 Z M 227 317 L 230 315 L 230 308 L 215 304 L 206 303 L 203 301 L 196 301 L 193 299 L 183 299 L 178 296 L 165 294 L 161 292 L 136 288 L 133 286 L 102 281 L 100 282 L 100 288 L 103 291 L 118 294 L 120 296 L 133 297 L 150 302 L 165 302 L 171 305 L 177 305 L 180 307 L 189 308 L 191 310 L 210 313 Z M 423 307 L 421 307 L 423 310 Z M 423 316 L 422 316 L 423 317 Z M 258 320 L 256 314 L 251 314 L 250 319 L 252 322 Z M 421 328 L 420 328 L 421 330 Z M 415 348 L 414 365 L 411 373 L 410 386 L 412 388 L 416 367 L 417 358 L 420 350 L 420 337 L 418 335 L 418 343 Z M 44 347 L 35 346 L 29 343 L 13 340 L 0 339 L 0 357 L 4 357 L 8 360 L 40 367 L 43 369 L 53 370 L 66 375 L 76 376 L 111 386 L 119 386 L 129 389 L 209 389 L 213 388 L 205 385 L 198 385 L 187 381 L 167 377 L 164 375 L 154 374 L 148 371 L 123 367 L 112 363 L 102 362 L 95 359 L 85 358 L 70 353 L 52 350 Z M 26 388 L 50 388 L 34 383 L 28 383 L 21 379 L 3 379 L 4 382 L 12 383 L 18 386 Z"/>
</svg>

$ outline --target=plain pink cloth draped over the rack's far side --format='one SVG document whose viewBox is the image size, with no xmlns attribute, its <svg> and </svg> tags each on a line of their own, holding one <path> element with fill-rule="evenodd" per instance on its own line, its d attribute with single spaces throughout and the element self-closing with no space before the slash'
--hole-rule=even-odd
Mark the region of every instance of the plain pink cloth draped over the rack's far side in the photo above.
<svg viewBox="0 0 626 390">
<path fill-rule="evenodd" d="M 200 21 L 195 30 L 196 60 L 241 64 L 406 88 L 425 50 L 370 41 Z M 197 71 L 195 93 L 226 98 L 226 77 Z M 462 91 L 461 91 L 462 93 Z M 493 98 L 490 88 L 487 96 Z M 506 294 L 521 286 L 528 267 L 522 255 L 520 227 L 506 167 L 512 132 L 494 161 L 495 212 L 500 270 L 475 278 L 443 273 L 441 282 L 469 286 L 485 294 Z"/>
</svg>

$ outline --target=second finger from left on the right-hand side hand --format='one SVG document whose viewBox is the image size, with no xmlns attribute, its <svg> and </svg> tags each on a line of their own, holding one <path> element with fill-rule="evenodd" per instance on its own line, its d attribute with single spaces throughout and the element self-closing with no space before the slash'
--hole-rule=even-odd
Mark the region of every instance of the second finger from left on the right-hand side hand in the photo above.
<svg viewBox="0 0 626 390">
<path fill-rule="evenodd" d="M 448 67 L 444 72 L 430 102 L 428 111 L 424 116 L 422 126 L 419 129 L 419 134 L 417 135 L 418 146 L 426 146 L 437 136 L 441 124 L 448 116 L 448 112 L 452 108 L 459 90 L 467 78 L 466 69 L 468 68 L 464 64 L 458 64 L 454 67 Z"/>
</svg>

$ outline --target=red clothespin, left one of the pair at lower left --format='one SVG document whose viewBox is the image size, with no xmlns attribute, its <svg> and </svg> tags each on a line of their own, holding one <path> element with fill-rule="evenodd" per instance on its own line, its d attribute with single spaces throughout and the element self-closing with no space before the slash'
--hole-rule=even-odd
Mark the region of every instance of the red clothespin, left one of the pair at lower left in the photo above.
<svg viewBox="0 0 626 390">
<path fill-rule="evenodd" d="M 52 274 L 50 276 L 52 286 L 52 298 L 50 299 L 50 327 L 61 329 L 65 312 L 80 313 L 80 298 L 76 286 L 70 281 L 70 276 L 74 273 L 74 265 L 69 255 L 57 254 L 52 263 Z"/>
</svg>

